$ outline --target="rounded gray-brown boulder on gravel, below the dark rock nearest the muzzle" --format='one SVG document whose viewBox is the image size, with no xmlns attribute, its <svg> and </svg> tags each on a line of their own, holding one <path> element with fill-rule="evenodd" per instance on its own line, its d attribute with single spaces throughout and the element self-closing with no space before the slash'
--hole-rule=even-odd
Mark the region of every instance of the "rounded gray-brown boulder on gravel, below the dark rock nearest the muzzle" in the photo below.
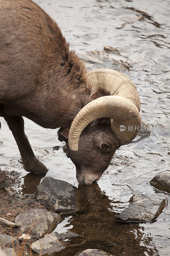
<svg viewBox="0 0 170 256">
<path fill-rule="evenodd" d="M 62 220 L 57 213 L 47 212 L 44 209 L 31 209 L 20 213 L 15 218 L 15 223 L 20 226 L 22 233 L 41 238 L 52 232 Z"/>
</svg>

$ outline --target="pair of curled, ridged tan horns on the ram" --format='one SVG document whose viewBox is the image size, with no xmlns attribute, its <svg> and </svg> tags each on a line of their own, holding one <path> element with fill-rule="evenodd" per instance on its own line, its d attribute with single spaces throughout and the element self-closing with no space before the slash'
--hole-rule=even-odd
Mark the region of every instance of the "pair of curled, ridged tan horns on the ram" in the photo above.
<svg viewBox="0 0 170 256">
<path fill-rule="evenodd" d="M 69 148 L 78 150 L 81 132 L 98 118 L 111 119 L 111 129 L 121 145 L 133 140 L 141 125 L 140 99 L 136 86 L 127 76 L 113 69 L 95 69 L 88 72 L 87 76 L 92 87 L 103 88 L 110 92 L 110 96 L 92 100 L 78 112 L 70 127 Z M 120 126 L 126 129 L 120 129 Z"/>
</svg>

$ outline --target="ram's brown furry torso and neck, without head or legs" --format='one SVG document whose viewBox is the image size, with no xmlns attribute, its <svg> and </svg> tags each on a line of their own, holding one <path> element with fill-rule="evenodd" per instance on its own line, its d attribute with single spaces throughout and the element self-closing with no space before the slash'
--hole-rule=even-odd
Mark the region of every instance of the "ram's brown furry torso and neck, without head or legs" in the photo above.
<svg viewBox="0 0 170 256">
<path fill-rule="evenodd" d="M 31 0 L 1 1 L 0 20 L 3 115 L 26 116 L 46 128 L 70 126 L 91 87 L 60 28 Z"/>
</svg>

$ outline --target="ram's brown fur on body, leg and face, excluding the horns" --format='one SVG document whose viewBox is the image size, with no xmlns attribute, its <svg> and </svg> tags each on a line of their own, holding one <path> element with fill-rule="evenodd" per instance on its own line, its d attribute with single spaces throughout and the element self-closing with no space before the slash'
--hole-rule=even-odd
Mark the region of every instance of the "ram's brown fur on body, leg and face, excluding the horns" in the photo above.
<svg viewBox="0 0 170 256">
<path fill-rule="evenodd" d="M 109 92 L 94 92 L 82 61 L 69 50 L 56 22 L 33 1 L 0 1 L 0 24 L 0 116 L 17 142 L 24 169 L 45 173 L 47 168 L 36 159 L 26 137 L 22 116 L 45 128 L 68 128 L 81 108 Z M 88 132 L 81 135 L 80 150 L 69 153 L 78 163 L 77 177 L 81 183 L 90 182 L 87 174 L 91 170 L 94 180 L 98 180 L 119 146 L 107 121 L 99 120 L 98 124 L 104 125 L 100 131 L 97 125 L 89 126 Z M 99 133 L 100 139 L 96 137 Z M 102 143 L 110 147 L 104 151 Z M 92 168 L 80 168 L 88 161 L 95 162 Z M 98 168 L 96 163 L 100 161 Z M 5 179 L 0 171 L 0 183 Z"/>
</svg>

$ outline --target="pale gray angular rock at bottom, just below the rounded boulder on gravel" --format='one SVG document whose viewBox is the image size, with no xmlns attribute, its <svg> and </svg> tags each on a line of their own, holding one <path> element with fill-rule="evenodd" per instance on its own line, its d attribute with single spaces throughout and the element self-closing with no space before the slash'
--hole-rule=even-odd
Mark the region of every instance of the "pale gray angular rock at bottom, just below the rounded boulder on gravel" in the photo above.
<svg viewBox="0 0 170 256">
<path fill-rule="evenodd" d="M 44 236 L 31 244 L 32 251 L 43 254 L 51 254 L 53 252 L 60 252 L 65 248 L 65 245 L 57 232 L 53 232 Z M 42 248 L 42 250 L 41 250 Z"/>
</svg>

